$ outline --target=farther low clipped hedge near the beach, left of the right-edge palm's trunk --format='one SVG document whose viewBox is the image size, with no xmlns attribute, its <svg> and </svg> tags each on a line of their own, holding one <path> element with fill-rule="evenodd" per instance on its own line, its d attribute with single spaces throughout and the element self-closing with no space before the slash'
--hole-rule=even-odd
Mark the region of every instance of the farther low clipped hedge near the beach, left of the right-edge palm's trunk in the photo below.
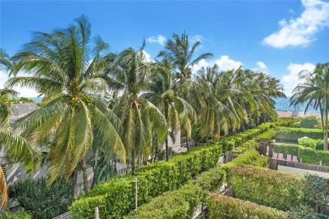
<svg viewBox="0 0 329 219">
<path fill-rule="evenodd" d="M 291 127 L 276 127 L 279 129 L 276 133 L 276 139 L 284 142 L 298 142 L 298 138 L 308 137 L 315 139 L 324 138 L 322 129 L 304 129 Z"/>
</svg>

